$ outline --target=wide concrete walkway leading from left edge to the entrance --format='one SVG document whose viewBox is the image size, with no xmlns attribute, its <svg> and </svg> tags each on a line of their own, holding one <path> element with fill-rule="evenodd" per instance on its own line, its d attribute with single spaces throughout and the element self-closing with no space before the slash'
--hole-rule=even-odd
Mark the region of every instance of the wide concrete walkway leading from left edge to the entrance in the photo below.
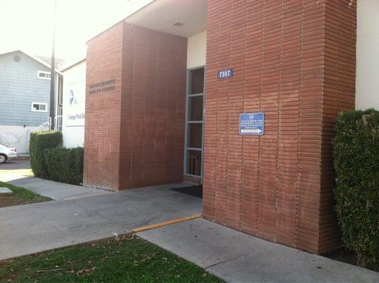
<svg viewBox="0 0 379 283">
<path fill-rule="evenodd" d="M 0 208 L 0 260 L 201 214 L 201 199 L 170 190 L 188 183 Z"/>
</svg>

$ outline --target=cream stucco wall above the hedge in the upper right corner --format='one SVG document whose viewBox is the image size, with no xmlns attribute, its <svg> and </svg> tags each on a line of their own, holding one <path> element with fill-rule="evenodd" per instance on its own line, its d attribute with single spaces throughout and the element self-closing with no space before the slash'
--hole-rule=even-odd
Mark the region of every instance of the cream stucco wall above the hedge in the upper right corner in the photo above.
<svg viewBox="0 0 379 283">
<path fill-rule="evenodd" d="M 379 110 L 379 1 L 358 1 L 356 108 Z"/>
</svg>

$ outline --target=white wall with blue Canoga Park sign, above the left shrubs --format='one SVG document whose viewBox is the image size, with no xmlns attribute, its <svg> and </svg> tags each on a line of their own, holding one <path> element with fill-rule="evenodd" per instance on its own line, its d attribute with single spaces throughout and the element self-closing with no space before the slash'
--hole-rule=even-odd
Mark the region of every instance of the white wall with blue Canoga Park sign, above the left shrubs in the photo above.
<svg viewBox="0 0 379 283">
<path fill-rule="evenodd" d="M 84 146 L 86 62 L 64 70 L 63 75 L 63 146 Z M 70 91 L 74 92 L 74 97 L 70 96 Z"/>
</svg>

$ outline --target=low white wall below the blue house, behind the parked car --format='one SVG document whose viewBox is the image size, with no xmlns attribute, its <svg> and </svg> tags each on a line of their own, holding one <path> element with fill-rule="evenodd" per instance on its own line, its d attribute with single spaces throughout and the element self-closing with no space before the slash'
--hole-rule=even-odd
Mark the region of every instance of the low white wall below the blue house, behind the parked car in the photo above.
<svg viewBox="0 0 379 283">
<path fill-rule="evenodd" d="M 29 152 L 30 131 L 35 127 L 0 125 L 0 144 L 15 147 L 18 154 Z"/>
</svg>

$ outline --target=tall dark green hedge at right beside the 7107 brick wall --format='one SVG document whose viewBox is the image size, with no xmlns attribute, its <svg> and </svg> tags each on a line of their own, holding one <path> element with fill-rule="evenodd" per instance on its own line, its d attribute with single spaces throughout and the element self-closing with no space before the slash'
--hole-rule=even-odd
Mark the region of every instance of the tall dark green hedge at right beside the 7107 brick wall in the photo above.
<svg viewBox="0 0 379 283">
<path fill-rule="evenodd" d="M 379 111 L 339 115 L 334 138 L 336 212 L 358 264 L 379 267 Z"/>
</svg>

